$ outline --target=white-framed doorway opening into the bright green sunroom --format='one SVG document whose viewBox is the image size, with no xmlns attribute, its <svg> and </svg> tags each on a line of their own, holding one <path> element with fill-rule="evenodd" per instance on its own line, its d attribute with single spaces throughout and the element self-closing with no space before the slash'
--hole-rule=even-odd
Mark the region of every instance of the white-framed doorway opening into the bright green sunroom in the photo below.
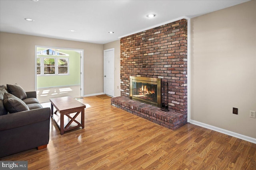
<svg viewBox="0 0 256 170">
<path fill-rule="evenodd" d="M 83 50 L 35 47 L 35 87 L 40 103 L 83 96 Z"/>
</svg>

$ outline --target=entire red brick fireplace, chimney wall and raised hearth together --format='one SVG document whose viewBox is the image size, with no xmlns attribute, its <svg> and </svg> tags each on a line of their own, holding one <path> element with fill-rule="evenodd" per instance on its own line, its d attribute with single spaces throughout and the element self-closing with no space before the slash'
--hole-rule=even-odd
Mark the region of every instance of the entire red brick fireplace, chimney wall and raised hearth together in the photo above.
<svg viewBox="0 0 256 170">
<path fill-rule="evenodd" d="M 177 129 L 187 123 L 187 20 L 182 19 L 120 39 L 121 96 L 112 105 Z M 170 111 L 130 99 L 130 76 L 168 82 Z"/>
</svg>

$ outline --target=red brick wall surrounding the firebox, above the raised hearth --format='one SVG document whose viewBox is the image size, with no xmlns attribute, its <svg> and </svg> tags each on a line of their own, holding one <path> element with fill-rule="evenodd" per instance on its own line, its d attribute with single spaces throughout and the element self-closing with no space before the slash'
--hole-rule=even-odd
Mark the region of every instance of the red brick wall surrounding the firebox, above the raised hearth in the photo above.
<svg viewBox="0 0 256 170">
<path fill-rule="evenodd" d="M 163 78 L 169 108 L 187 113 L 187 20 L 123 37 L 120 53 L 121 96 L 130 96 L 130 76 Z"/>
</svg>

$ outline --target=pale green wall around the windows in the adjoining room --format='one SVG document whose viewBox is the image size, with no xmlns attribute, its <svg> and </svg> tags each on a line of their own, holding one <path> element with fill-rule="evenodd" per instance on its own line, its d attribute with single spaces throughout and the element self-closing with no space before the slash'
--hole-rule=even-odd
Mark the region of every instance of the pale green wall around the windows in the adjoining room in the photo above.
<svg viewBox="0 0 256 170">
<path fill-rule="evenodd" d="M 38 47 L 37 51 L 48 48 Z M 47 88 L 56 86 L 69 86 L 80 84 L 80 53 L 72 50 L 60 49 L 59 52 L 66 53 L 69 56 L 55 56 L 55 55 L 37 55 L 37 57 L 56 57 L 68 58 L 69 60 L 69 74 L 68 75 L 45 75 L 37 76 L 37 88 Z"/>
</svg>

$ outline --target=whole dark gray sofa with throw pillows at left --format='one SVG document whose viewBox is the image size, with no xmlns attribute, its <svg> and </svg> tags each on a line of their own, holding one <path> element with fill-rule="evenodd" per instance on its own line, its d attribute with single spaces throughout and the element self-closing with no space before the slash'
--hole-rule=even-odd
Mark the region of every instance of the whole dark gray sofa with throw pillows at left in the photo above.
<svg viewBox="0 0 256 170">
<path fill-rule="evenodd" d="M 43 108 L 39 104 L 36 92 L 22 92 L 23 97 L 20 97 L 15 92 L 17 87 L 20 90 L 20 86 L 15 84 L 7 87 L 0 86 L 0 157 L 46 148 L 50 132 L 50 107 Z"/>
</svg>

